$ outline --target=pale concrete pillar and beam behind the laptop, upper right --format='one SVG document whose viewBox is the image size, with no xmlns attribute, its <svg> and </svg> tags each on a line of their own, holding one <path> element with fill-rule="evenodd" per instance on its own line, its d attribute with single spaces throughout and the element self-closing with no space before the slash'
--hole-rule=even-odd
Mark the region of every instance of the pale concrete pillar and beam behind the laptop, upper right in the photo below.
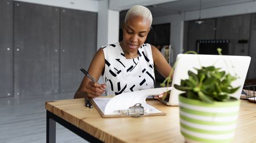
<svg viewBox="0 0 256 143">
<path fill-rule="evenodd" d="M 256 2 L 250 1 L 234 5 L 218 6 L 201 10 L 201 19 L 217 18 L 222 16 L 250 14 L 256 12 Z M 159 16 L 153 19 L 153 24 L 171 23 L 170 41 L 174 49 L 174 58 L 183 51 L 183 24 L 184 21 L 196 20 L 199 11 L 185 11 L 180 14 Z M 174 59 L 175 60 L 175 59 Z"/>
</svg>

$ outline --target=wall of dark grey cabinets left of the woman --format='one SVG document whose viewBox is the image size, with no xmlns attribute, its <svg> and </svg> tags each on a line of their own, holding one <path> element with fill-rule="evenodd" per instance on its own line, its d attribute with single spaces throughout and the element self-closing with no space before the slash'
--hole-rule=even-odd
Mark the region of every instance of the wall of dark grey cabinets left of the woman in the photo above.
<svg viewBox="0 0 256 143">
<path fill-rule="evenodd" d="M 0 98 L 75 93 L 96 53 L 97 12 L 3 0 L 0 18 Z"/>
</svg>

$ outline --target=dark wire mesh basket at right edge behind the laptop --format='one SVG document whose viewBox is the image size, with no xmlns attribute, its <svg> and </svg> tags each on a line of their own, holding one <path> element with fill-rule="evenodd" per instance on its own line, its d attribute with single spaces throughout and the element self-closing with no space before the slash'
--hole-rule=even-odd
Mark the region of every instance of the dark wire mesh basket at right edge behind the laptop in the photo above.
<svg viewBox="0 0 256 143">
<path fill-rule="evenodd" d="M 256 103 L 255 88 L 256 88 L 256 85 L 243 86 L 240 99 L 246 99 L 250 102 Z"/>
</svg>

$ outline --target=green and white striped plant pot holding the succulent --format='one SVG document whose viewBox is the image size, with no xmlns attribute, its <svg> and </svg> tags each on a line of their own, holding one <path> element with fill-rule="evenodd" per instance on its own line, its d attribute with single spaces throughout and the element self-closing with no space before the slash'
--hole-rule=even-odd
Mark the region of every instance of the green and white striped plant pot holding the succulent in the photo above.
<svg viewBox="0 0 256 143">
<path fill-rule="evenodd" d="M 185 141 L 231 142 L 237 123 L 240 101 L 213 104 L 179 96 L 180 131 Z"/>
</svg>

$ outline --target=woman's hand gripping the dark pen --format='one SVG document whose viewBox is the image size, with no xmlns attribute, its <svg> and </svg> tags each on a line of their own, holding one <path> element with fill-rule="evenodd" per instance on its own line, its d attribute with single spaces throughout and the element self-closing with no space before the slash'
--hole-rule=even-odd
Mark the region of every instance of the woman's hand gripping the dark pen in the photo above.
<svg viewBox="0 0 256 143">
<path fill-rule="evenodd" d="M 94 81 L 90 81 L 86 85 L 86 93 L 89 98 L 96 98 L 105 93 L 106 84 L 98 84 Z"/>
</svg>

